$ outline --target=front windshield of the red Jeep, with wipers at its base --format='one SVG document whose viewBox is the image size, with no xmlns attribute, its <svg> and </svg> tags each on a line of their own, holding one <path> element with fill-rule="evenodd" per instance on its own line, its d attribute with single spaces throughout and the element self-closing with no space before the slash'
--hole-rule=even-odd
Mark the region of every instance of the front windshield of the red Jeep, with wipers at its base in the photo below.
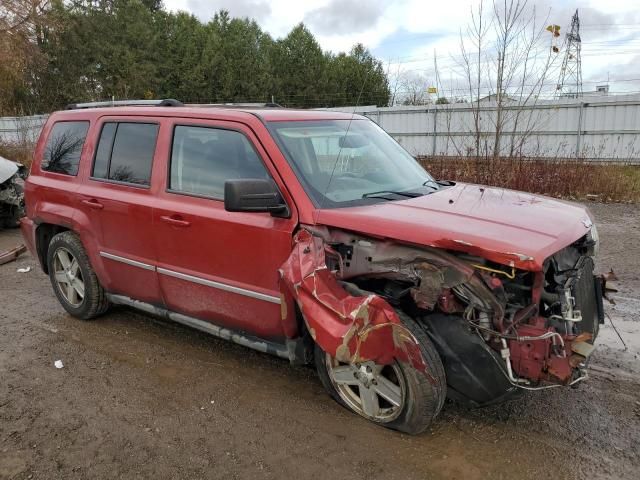
<svg viewBox="0 0 640 480">
<path fill-rule="evenodd" d="M 369 120 L 271 122 L 269 129 L 318 207 L 368 205 L 438 189 L 424 168 Z"/>
</svg>

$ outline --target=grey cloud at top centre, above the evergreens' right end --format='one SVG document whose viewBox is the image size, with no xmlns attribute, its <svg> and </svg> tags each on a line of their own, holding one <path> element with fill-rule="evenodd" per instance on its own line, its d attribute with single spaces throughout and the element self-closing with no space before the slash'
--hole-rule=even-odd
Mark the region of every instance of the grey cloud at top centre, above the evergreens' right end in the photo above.
<svg viewBox="0 0 640 480">
<path fill-rule="evenodd" d="M 309 11 L 304 23 L 319 34 L 352 34 L 374 27 L 385 10 L 381 0 L 331 0 L 327 5 Z"/>
</svg>

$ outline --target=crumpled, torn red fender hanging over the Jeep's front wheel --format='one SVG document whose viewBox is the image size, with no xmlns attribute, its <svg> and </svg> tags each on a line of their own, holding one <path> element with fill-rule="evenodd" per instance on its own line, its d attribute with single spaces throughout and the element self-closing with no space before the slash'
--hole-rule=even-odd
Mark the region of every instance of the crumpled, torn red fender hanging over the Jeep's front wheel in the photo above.
<svg viewBox="0 0 640 480">
<path fill-rule="evenodd" d="M 283 293 L 297 303 L 311 337 L 341 362 L 388 365 L 397 359 L 426 373 L 418 341 L 393 307 L 375 294 L 351 295 L 327 267 L 327 254 L 338 255 L 301 230 L 280 270 Z"/>
</svg>

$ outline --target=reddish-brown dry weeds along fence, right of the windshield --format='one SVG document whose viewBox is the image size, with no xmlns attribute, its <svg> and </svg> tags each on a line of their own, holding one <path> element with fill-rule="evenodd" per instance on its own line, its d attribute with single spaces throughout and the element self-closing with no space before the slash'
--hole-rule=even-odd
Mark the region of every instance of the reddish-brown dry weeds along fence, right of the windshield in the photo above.
<svg viewBox="0 0 640 480">
<path fill-rule="evenodd" d="M 438 179 L 478 183 L 571 200 L 640 202 L 640 166 L 586 160 L 420 157 Z"/>
</svg>

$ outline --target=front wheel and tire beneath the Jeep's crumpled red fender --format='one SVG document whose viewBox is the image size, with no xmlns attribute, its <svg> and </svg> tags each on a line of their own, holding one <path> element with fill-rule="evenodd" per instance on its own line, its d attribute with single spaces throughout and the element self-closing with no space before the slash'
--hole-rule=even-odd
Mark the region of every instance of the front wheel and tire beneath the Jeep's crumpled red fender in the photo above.
<svg viewBox="0 0 640 480">
<path fill-rule="evenodd" d="M 324 388 L 340 405 L 374 423 L 415 435 L 442 409 L 447 382 L 431 340 L 413 319 L 398 315 L 418 340 L 426 375 L 398 360 L 390 365 L 341 363 L 317 344 L 315 363 Z"/>
</svg>

